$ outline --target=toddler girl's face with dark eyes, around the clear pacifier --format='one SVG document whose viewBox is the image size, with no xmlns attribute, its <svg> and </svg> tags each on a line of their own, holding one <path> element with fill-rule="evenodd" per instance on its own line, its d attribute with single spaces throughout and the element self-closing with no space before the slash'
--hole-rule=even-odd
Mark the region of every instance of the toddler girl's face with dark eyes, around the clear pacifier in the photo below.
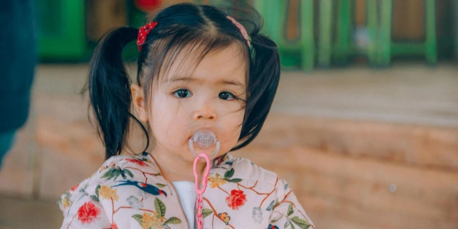
<svg viewBox="0 0 458 229">
<path fill-rule="evenodd" d="M 186 52 L 183 52 L 186 53 Z M 246 95 L 246 64 L 237 45 L 208 53 L 195 67 L 177 59 L 166 75 L 159 77 L 150 95 L 148 120 L 156 151 L 193 161 L 189 139 L 199 129 L 211 129 L 220 140 L 220 156 L 230 151 L 240 136 Z M 192 69 L 195 67 L 195 70 Z M 211 155 L 215 146 L 196 149 Z M 213 158 L 211 158 L 213 159 Z"/>
</svg>

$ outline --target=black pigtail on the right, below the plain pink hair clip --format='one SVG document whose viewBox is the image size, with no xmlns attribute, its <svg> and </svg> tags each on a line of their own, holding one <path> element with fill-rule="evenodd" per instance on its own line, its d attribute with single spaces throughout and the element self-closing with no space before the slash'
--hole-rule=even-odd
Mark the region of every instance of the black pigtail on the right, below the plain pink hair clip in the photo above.
<svg viewBox="0 0 458 229">
<path fill-rule="evenodd" d="M 272 106 L 280 79 L 280 56 L 273 40 L 259 33 L 262 26 L 251 33 L 250 70 L 245 118 L 238 150 L 248 145 L 261 131 Z"/>
</svg>

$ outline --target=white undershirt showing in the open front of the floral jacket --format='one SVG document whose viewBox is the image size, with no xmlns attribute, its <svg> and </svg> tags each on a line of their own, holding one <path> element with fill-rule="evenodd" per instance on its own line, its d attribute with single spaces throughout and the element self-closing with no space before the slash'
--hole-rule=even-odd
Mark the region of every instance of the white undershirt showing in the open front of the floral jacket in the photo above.
<svg viewBox="0 0 458 229">
<path fill-rule="evenodd" d="M 191 181 L 174 181 L 172 182 L 178 193 L 181 206 L 188 219 L 189 228 L 194 228 L 195 225 L 195 202 L 197 193 L 195 193 L 194 182 Z"/>
</svg>

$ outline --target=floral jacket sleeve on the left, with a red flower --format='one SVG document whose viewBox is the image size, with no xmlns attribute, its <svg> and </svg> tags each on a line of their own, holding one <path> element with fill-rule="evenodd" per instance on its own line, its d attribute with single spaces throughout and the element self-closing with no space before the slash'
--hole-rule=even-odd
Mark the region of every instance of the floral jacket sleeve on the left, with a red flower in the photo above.
<svg viewBox="0 0 458 229">
<path fill-rule="evenodd" d="M 85 192 L 65 193 L 59 201 L 59 206 L 64 212 L 61 229 L 111 228 L 102 206 Z"/>
</svg>

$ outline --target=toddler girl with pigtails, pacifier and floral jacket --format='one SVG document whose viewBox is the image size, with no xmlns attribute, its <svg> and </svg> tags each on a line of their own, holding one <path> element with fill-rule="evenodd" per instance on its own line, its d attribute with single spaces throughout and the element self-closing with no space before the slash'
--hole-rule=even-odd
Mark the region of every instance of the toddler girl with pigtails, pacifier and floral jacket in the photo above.
<svg viewBox="0 0 458 229">
<path fill-rule="evenodd" d="M 62 228 L 314 228 L 288 183 L 227 154 L 260 132 L 280 75 L 251 10 L 249 33 L 215 7 L 178 4 L 101 40 L 89 92 L 107 160 L 62 195 Z M 131 83 L 121 53 L 135 39 Z M 132 120 L 151 152 L 121 155 Z"/>
</svg>

